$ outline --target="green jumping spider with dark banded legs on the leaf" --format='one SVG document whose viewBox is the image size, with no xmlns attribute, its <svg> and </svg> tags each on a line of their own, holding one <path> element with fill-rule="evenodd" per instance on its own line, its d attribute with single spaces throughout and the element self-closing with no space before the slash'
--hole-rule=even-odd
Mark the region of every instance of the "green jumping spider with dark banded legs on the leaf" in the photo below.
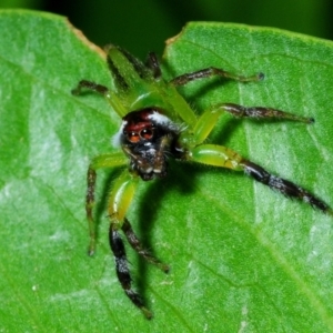
<svg viewBox="0 0 333 333">
<path fill-rule="evenodd" d="M 102 94 L 122 118 L 120 130 L 113 137 L 113 145 L 120 148 L 119 151 L 94 158 L 88 169 L 85 211 L 90 231 L 89 254 L 92 255 L 95 250 L 97 236 L 92 209 L 97 170 L 124 167 L 109 193 L 109 240 L 114 255 L 118 280 L 128 297 L 147 319 L 152 317 L 152 312 L 145 306 L 138 292 L 132 289 L 132 279 L 120 232 L 124 233 L 130 245 L 149 263 L 157 265 L 165 273 L 169 272 L 169 265 L 162 263 L 142 246 L 125 216 L 140 179 L 151 181 L 155 178 L 164 178 L 168 173 L 169 159 L 245 172 L 255 181 L 289 198 L 296 198 L 333 215 L 332 209 L 326 203 L 305 189 L 271 174 L 226 147 L 205 143 L 218 119 L 224 113 L 236 118 L 286 119 L 304 123 L 312 123 L 314 121 L 312 118 L 297 117 L 272 108 L 246 108 L 233 103 L 218 103 L 201 115 L 196 115 L 176 89 L 191 81 L 211 77 L 240 82 L 259 81 L 263 79 L 262 73 L 242 77 L 210 67 L 167 81 L 162 77 L 155 53 L 149 53 L 147 63 L 143 63 L 115 46 L 105 47 L 105 52 L 115 85 L 114 90 L 88 80 L 81 80 L 72 90 L 73 94 L 80 94 L 82 89 Z"/>
</svg>

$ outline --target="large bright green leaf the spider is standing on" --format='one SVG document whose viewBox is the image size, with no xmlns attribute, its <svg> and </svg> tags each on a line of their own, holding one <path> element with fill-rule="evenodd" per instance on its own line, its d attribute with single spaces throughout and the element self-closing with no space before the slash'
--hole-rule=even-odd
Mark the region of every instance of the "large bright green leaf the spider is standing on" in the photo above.
<svg viewBox="0 0 333 333">
<path fill-rule="evenodd" d="M 123 294 L 98 183 L 99 244 L 87 256 L 89 160 L 112 150 L 120 119 L 81 79 L 112 87 L 101 51 L 61 17 L 0 12 L 0 332 L 333 332 L 332 218 L 242 173 L 171 163 L 129 212 L 172 271 L 128 249 L 155 317 Z M 333 43 L 238 24 L 191 23 L 169 40 L 165 75 L 215 65 L 262 82 L 202 80 L 182 92 L 198 113 L 216 102 L 270 105 L 315 123 L 219 121 L 211 141 L 333 204 Z"/>
</svg>

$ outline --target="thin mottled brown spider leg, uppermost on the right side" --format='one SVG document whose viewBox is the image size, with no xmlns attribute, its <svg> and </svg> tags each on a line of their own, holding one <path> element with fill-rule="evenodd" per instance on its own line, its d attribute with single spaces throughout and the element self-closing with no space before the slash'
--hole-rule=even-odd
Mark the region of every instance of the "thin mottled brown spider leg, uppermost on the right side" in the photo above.
<svg viewBox="0 0 333 333">
<path fill-rule="evenodd" d="M 224 71 L 223 69 L 220 68 L 209 67 L 195 72 L 184 73 L 182 75 L 175 77 L 170 81 L 170 83 L 173 85 L 184 85 L 191 81 L 204 79 L 204 78 L 211 78 L 211 77 L 221 77 L 224 79 L 231 79 L 240 82 L 250 82 L 250 81 L 262 80 L 264 78 L 264 74 L 258 73 L 252 77 L 243 77 L 243 75 L 236 75 L 231 72 Z"/>
</svg>

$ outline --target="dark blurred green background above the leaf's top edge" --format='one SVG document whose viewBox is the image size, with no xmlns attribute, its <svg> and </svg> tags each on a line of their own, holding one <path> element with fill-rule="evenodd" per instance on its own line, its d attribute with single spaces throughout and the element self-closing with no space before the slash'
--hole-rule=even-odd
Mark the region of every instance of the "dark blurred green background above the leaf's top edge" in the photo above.
<svg viewBox="0 0 333 333">
<path fill-rule="evenodd" d="M 164 41 L 188 21 L 223 21 L 282 28 L 333 39 L 331 0 L 1 0 L 65 16 L 94 43 L 122 46 L 138 57 L 162 53 Z"/>
</svg>

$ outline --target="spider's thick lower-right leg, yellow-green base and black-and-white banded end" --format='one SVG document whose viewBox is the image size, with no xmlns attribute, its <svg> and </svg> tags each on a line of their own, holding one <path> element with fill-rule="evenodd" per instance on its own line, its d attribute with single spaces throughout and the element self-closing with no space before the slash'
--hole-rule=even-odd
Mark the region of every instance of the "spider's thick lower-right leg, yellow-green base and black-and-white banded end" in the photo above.
<svg viewBox="0 0 333 333">
<path fill-rule="evenodd" d="M 255 181 L 261 182 L 264 185 L 268 185 L 269 188 L 276 190 L 284 195 L 304 201 L 313 208 L 333 215 L 332 209 L 315 195 L 311 194 L 310 192 L 291 181 L 269 173 L 262 167 L 243 159 L 236 152 L 223 145 L 196 145 L 195 148 L 189 150 L 186 160 L 209 165 L 228 168 L 235 171 L 244 171 Z"/>
</svg>

